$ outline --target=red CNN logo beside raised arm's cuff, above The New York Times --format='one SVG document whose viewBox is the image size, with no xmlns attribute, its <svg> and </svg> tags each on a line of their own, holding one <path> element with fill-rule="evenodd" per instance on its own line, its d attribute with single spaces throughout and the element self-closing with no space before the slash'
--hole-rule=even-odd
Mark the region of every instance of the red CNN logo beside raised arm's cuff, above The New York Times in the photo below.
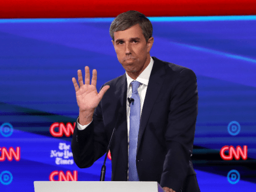
<svg viewBox="0 0 256 192">
<path fill-rule="evenodd" d="M 53 137 L 62 137 L 63 133 L 66 135 L 66 137 L 70 137 L 71 133 L 73 135 L 75 126 L 76 122 L 74 122 L 73 125 L 71 123 L 67 123 L 66 126 L 64 123 L 52 123 L 50 133 Z M 54 130 L 56 127 L 59 127 L 59 132 Z"/>
</svg>

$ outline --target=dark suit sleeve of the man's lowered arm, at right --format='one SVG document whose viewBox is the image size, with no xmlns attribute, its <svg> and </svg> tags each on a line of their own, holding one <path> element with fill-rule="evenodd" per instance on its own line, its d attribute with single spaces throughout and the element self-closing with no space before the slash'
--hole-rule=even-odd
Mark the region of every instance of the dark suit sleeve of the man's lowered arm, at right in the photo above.
<svg viewBox="0 0 256 192">
<path fill-rule="evenodd" d="M 165 132 L 167 154 L 160 185 L 178 192 L 188 175 L 197 117 L 197 81 L 191 69 L 183 69 L 171 92 Z"/>
</svg>

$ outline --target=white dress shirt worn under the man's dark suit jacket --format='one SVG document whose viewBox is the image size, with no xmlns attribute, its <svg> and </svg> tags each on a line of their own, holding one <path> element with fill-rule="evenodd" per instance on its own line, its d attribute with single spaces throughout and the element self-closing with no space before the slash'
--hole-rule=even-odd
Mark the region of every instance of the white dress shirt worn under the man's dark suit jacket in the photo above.
<svg viewBox="0 0 256 192">
<path fill-rule="evenodd" d="M 141 116 L 144 99 L 145 99 L 147 88 L 148 88 L 149 77 L 152 71 L 153 64 L 154 64 L 154 60 L 151 57 L 149 65 L 146 67 L 146 69 L 144 69 L 144 71 L 142 71 L 140 76 L 138 76 L 136 79 L 138 82 L 140 82 L 140 86 L 138 87 L 138 94 L 140 96 L 140 116 Z M 126 73 L 126 79 L 127 79 L 127 98 L 130 98 L 130 96 L 132 96 L 131 82 L 133 81 L 133 79 L 127 73 Z M 126 112 L 127 112 L 128 155 L 129 155 L 130 107 L 127 99 L 126 99 Z M 77 128 L 79 130 L 84 130 L 89 124 L 82 126 L 77 121 Z M 129 163 L 128 163 L 128 166 L 129 166 Z M 127 172 L 128 172 L 127 180 L 129 180 L 129 169 Z"/>
</svg>

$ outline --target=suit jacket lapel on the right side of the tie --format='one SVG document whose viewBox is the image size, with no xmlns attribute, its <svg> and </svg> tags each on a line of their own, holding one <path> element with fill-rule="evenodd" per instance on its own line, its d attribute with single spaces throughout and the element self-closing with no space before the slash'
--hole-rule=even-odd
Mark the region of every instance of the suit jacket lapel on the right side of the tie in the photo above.
<svg viewBox="0 0 256 192">
<path fill-rule="evenodd" d="M 140 148 L 141 138 L 146 128 L 146 124 L 148 123 L 149 115 L 151 113 L 155 100 L 157 99 L 158 93 L 160 92 L 165 77 L 165 68 L 163 62 L 155 57 L 152 58 L 154 59 L 154 65 L 152 67 L 151 75 L 149 77 L 149 84 L 144 99 L 143 109 L 141 112 L 137 154 L 138 149 Z"/>
</svg>

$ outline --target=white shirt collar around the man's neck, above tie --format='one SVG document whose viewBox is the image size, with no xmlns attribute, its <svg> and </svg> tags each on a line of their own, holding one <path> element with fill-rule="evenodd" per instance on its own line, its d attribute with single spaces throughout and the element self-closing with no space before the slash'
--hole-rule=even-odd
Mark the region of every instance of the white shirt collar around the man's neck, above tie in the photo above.
<svg viewBox="0 0 256 192">
<path fill-rule="evenodd" d="M 152 57 L 150 57 L 149 65 L 146 67 L 146 69 L 144 69 L 144 71 L 142 71 L 142 73 L 136 79 L 138 82 L 148 86 L 149 77 L 152 71 L 153 64 L 154 64 L 154 60 L 152 59 Z M 126 79 L 127 79 L 127 89 L 129 89 L 130 83 L 134 79 L 132 79 L 127 73 L 126 73 Z"/>
</svg>

